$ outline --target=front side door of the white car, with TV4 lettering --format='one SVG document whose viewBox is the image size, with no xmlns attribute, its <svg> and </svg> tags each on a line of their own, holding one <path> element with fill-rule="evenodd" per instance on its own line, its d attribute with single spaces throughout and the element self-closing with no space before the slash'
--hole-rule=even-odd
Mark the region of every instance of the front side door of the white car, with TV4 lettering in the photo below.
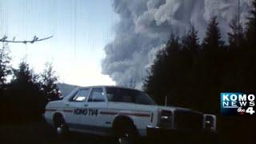
<svg viewBox="0 0 256 144">
<path fill-rule="evenodd" d="M 98 132 L 103 132 L 106 122 L 100 114 L 100 111 L 106 109 L 107 102 L 103 87 L 94 87 L 90 90 L 90 96 L 88 101 L 85 103 L 87 105 L 87 119 L 83 119 L 86 124 L 86 130 L 97 130 Z"/>
</svg>

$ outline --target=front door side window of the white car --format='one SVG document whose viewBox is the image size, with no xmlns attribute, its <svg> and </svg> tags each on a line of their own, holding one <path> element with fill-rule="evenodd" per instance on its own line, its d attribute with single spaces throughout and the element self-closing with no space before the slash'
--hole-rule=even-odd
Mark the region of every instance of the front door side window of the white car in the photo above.
<svg viewBox="0 0 256 144">
<path fill-rule="evenodd" d="M 93 90 L 91 90 L 88 102 L 105 102 L 103 89 L 94 88 Z"/>
</svg>

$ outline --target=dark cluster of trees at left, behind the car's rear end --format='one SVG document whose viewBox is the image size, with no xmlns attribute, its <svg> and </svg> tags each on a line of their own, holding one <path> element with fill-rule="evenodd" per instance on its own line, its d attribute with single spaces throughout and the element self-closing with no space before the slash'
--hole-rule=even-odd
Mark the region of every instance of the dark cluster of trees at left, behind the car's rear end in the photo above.
<svg viewBox="0 0 256 144">
<path fill-rule="evenodd" d="M 31 122 L 42 118 L 47 102 L 60 99 L 58 77 L 50 62 L 41 74 L 34 73 L 22 60 L 18 68 L 10 65 L 10 50 L 2 42 L 0 50 L 0 122 Z"/>
</svg>

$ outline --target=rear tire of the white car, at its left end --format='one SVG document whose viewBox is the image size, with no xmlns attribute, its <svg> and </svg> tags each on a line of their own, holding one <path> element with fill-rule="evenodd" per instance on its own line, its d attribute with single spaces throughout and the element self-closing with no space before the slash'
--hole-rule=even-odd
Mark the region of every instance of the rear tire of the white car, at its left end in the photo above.
<svg viewBox="0 0 256 144">
<path fill-rule="evenodd" d="M 65 122 L 64 118 L 62 118 L 62 116 L 59 116 L 58 118 L 56 118 L 56 120 L 54 122 L 54 128 L 55 128 L 55 132 L 57 134 L 57 138 L 59 140 L 65 140 L 68 137 L 69 128 L 66 125 L 66 122 Z"/>
</svg>

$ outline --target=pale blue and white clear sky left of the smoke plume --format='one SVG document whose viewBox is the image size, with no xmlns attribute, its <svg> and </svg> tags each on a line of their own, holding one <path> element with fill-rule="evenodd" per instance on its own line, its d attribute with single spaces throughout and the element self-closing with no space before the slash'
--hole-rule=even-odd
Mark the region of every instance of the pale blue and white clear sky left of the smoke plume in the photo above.
<svg viewBox="0 0 256 144">
<path fill-rule="evenodd" d="M 78 86 L 114 85 L 102 74 L 104 46 L 114 38 L 111 0 L 0 0 L 0 38 L 46 41 L 9 43 L 12 65 L 22 59 L 36 73 L 52 62 L 59 82 Z"/>
</svg>

